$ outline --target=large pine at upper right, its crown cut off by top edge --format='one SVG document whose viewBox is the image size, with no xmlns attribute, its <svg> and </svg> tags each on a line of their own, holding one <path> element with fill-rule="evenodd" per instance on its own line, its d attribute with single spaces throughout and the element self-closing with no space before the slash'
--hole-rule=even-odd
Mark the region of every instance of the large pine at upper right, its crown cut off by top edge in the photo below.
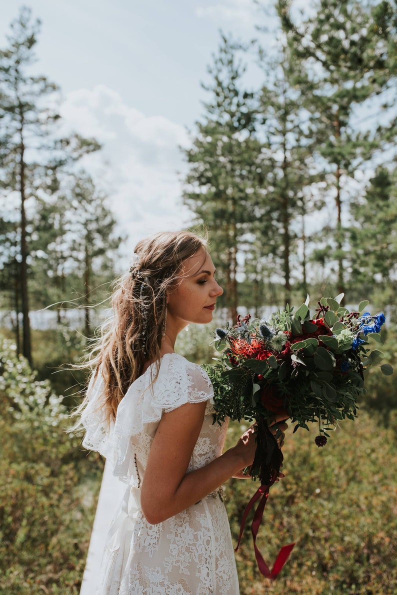
<svg viewBox="0 0 397 595">
<path fill-rule="evenodd" d="M 295 82 L 311 112 L 315 154 L 335 201 L 336 223 L 324 228 L 323 236 L 331 234 L 324 253 L 336 260 L 337 291 L 345 292 L 346 227 L 354 175 L 379 160 L 395 136 L 393 120 L 374 126 L 364 112 L 372 110 L 377 117 L 389 107 L 387 93 L 395 77 L 393 8 L 386 1 L 365 7 L 352 0 L 320 0 L 314 15 L 295 24 L 290 4 L 279 0 L 277 7 L 290 60 L 303 66 Z"/>
</svg>

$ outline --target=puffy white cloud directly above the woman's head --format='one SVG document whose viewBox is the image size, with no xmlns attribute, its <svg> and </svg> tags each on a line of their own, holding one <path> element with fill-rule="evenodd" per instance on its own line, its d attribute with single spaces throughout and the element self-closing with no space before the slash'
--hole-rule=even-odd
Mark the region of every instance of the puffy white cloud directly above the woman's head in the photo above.
<svg viewBox="0 0 397 595">
<path fill-rule="evenodd" d="M 87 156 L 83 165 L 110 196 L 120 231 L 127 236 L 126 259 L 147 234 L 189 224 L 177 174 L 186 170 L 179 149 L 189 145 L 183 126 L 162 115 L 143 114 L 104 85 L 69 93 L 61 115 L 69 129 L 103 143 L 102 151 Z"/>
</svg>

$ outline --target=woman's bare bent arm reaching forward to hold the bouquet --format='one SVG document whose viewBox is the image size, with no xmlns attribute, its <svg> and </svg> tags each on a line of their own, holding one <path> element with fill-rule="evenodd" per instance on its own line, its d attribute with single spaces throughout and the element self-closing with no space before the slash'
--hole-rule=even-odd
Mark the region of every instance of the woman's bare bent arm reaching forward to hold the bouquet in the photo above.
<svg viewBox="0 0 397 595">
<path fill-rule="evenodd" d="M 163 415 L 149 452 L 140 503 L 157 524 L 192 506 L 240 469 L 252 464 L 256 443 L 250 428 L 235 446 L 200 469 L 186 473 L 207 403 L 186 403 Z"/>
</svg>

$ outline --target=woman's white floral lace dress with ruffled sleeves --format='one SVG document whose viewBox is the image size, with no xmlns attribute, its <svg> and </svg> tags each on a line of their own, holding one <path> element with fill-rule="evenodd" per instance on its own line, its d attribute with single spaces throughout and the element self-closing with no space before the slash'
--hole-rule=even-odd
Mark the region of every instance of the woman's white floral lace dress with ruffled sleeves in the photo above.
<svg viewBox="0 0 397 595">
<path fill-rule="evenodd" d="M 127 484 L 108 534 L 96 595 L 238 595 L 229 521 L 219 491 L 157 525 L 142 514 L 140 484 L 164 412 L 208 401 L 188 472 L 221 455 L 227 431 L 227 424 L 212 424 L 212 386 L 198 365 L 168 353 L 149 387 L 151 380 L 149 368 L 130 386 L 110 431 L 98 409 L 100 384 L 90 390 L 83 414 L 83 446 L 111 458 L 114 475 Z"/>
</svg>

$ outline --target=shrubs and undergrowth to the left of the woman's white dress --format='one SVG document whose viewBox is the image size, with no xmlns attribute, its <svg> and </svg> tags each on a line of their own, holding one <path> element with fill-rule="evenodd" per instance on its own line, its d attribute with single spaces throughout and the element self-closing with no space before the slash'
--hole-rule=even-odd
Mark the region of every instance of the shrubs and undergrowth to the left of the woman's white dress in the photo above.
<svg viewBox="0 0 397 595">
<path fill-rule="evenodd" d="M 0 366 L 0 593 L 77 594 L 102 464 L 66 433 L 62 397 L 10 342 Z"/>
</svg>

